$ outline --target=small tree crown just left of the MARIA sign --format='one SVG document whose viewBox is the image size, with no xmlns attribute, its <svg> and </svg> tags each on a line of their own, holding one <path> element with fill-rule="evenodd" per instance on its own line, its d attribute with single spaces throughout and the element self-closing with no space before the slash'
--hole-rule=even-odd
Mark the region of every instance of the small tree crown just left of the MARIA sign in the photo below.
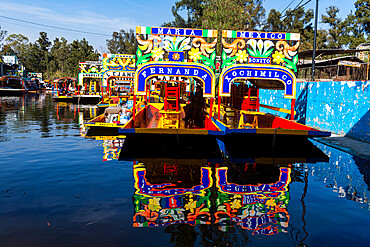
<svg viewBox="0 0 370 247">
<path fill-rule="evenodd" d="M 114 32 L 111 39 L 107 39 L 108 51 L 113 54 L 135 54 L 136 52 L 136 34 L 135 31 L 121 30 Z"/>
</svg>

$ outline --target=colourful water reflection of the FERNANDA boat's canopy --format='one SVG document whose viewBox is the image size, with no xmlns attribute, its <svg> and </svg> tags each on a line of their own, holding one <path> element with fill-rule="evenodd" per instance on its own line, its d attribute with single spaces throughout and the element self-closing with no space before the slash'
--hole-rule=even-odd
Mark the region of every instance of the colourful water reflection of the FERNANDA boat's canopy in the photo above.
<svg viewBox="0 0 370 247">
<path fill-rule="evenodd" d="M 212 168 L 202 160 L 134 165 L 134 227 L 211 224 Z"/>
</svg>

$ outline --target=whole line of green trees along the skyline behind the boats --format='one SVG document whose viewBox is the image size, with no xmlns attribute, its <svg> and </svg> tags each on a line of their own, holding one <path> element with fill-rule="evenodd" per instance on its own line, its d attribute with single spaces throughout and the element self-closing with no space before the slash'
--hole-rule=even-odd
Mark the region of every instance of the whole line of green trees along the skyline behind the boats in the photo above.
<svg viewBox="0 0 370 247">
<path fill-rule="evenodd" d="M 356 48 L 370 34 L 370 0 L 357 0 L 355 11 L 341 19 L 339 8 L 330 6 L 321 15 L 327 29 L 318 30 L 318 49 Z M 257 30 L 301 34 L 300 50 L 313 48 L 314 11 L 303 5 L 284 13 L 271 9 L 266 15 L 263 0 L 179 0 L 172 6 L 174 20 L 162 26 L 216 30 Z M 185 13 L 185 15 L 184 15 Z M 221 32 L 219 32 L 220 35 Z M 2 31 L 1 39 L 6 32 Z M 135 31 L 113 32 L 107 39 L 110 53 L 135 54 Z M 22 34 L 6 37 L 3 51 L 16 53 L 28 71 L 42 72 L 48 78 L 78 74 L 79 61 L 98 60 L 100 54 L 87 40 L 56 38 L 50 42 L 45 32 L 34 43 Z"/>
</svg>

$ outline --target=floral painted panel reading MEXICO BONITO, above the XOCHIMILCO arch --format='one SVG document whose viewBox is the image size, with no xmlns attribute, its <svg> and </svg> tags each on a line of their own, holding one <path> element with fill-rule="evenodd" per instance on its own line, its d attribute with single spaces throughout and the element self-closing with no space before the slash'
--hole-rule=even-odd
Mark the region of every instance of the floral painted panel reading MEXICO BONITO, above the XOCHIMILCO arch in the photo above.
<svg viewBox="0 0 370 247">
<path fill-rule="evenodd" d="M 248 63 L 279 65 L 297 72 L 299 34 L 223 30 L 221 42 L 221 69 Z"/>
</svg>

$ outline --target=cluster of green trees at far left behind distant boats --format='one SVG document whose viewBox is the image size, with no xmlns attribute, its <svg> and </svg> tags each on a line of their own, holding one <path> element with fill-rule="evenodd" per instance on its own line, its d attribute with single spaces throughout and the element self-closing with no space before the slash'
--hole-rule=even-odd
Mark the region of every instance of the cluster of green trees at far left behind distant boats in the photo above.
<svg viewBox="0 0 370 247">
<path fill-rule="evenodd" d="M 34 43 L 22 34 L 9 35 L 5 43 L 3 53 L 16 54 L 27 71 L 41 72 L 48 79 L 77 77 L 79 61 L 96 61 L 100 56 L 86 39 L 68 43 L 62 37 L 50 42 L 45 32 Z"/>
</svg>

